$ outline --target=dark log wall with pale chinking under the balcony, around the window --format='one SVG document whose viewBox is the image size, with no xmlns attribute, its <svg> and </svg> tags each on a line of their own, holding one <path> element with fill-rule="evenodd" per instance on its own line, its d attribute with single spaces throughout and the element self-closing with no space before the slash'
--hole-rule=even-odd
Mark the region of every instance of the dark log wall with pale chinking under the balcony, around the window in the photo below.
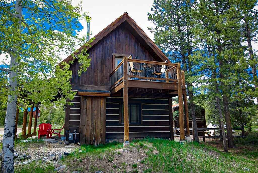
<svg viewBox="0 0 258 173">
<path fill-rule="evenodd" d="M 122 101 L 123 98 L 107 97 L 106 139 L 124 138 L 124 127 L 119 125 L 119 107 Z M 167 99 L 128 99 L 129 103 L 132 101 L 142 103 L 142 124 L 129 125 L 129 138 L 170 138 Z"/>
</svg>

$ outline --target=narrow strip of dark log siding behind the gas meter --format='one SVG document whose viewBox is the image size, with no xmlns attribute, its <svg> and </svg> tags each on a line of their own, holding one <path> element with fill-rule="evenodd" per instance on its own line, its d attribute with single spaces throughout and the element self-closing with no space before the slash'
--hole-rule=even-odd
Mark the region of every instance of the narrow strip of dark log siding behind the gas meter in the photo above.
<svg viewBox="0 0 258 173">
<path fill-rule="evenodd" d="M 71 100 L 71 103 L 73 103 L 73 105 L 69 106 L 69 110 L 67 110 L 68 108 L 66 108 L 66 111 L 69 112 L 69 115 L 67 117 L 67 114 L 66 114 L 65 124 L 66 124 L 67 130 L 70 130 L 71 132 L 74 132 L 74 130 L 76 130 L 76 141 L 79 141 L 81 97 L 78 95 L 77 91 L 75 92 L 76 92 L 76 95 Z M 64 132 L 64 135 L 65 135 L 65 132 Z M 68 133 L 66 137 L 68 139 Z M 74 143 L 74 140 L 71 140 L 69 142 Z"/>
</svg>

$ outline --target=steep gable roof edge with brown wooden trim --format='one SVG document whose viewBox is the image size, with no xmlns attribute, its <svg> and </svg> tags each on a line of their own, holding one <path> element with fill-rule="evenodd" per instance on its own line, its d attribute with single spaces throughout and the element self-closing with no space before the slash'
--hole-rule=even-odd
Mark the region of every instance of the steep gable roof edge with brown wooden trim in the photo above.
<svg viewBox="0 0 258 173">
<path fill-rule="evenodd" d="M 86 47 L 87 51 L 91 50 L 94 45 L 97 45 L 101 42 L 105 37 L 111 34 L 115 29 L 119 26 L 125 26 L 131 34 L 142 44 L 142 46 L 151 54 L 151 56 L 156 61 L 166 61 L 171 62 L 165 54 L 158 48 L 158 46 L 143 32 L 143 30 L 137 25 L 137 23 L 125 12 L 119 18 L 117 18 L 114 22 L 104 28 L 101 32 L 94 36 L 95 40 L 91 43 L 91 47 Z M 80 49 L 84 49 L 85 46 L 80 47 Z M 79 54 L 80 51 L 74 53 L 75 55 Z M 72 60 L 72 55 L 68 56 L 63 62 L 69 63 Z"/>
</svg>

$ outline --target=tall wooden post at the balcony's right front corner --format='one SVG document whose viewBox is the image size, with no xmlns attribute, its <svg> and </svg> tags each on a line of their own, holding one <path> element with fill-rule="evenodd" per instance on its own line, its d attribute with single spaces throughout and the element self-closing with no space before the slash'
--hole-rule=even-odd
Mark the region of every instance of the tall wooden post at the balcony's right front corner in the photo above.
<svg viewBox="0 0 258 173">
<path fill-rule="evenodd" d="M 181 76 L 181 64 L 177 66 L 177 78 L 178 78 L 178 104 L 179 104 L 179 128 L 180 128 L 180 141 L 185 142 L 184 136 L 184 113 L 183 113 L 183 92 L 182 92 L 182 76 Z"/>
</svg>

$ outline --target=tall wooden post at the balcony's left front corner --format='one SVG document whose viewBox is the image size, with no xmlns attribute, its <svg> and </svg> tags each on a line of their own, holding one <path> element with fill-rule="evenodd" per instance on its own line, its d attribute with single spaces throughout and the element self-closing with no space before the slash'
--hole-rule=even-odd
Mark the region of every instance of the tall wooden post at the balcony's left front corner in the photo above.
<svg viewBox="0 0 258 173">
<path fill-rule="evenodd" d="M 128 117 L 128 83 L 127 83 L 127 62 L 128 57 L 124 57 L 124 147 L 130 146 L 129 143 L 129 117 Z"/>
</svg>

